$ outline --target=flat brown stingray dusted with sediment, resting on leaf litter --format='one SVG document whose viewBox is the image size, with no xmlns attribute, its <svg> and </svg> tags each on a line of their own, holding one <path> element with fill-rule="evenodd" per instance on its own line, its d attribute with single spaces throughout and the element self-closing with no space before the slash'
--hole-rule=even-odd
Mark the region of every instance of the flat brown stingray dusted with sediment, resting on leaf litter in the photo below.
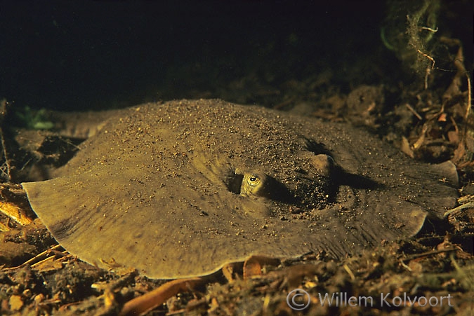
<svg viewBox="0 0 474 316">
<path fill-rule="evenodd" d="M 71 254 L 152 278 L 251 255 L 354 254 L 416 234 L 456 200 L 447 164 L 348 125 L 219 100 L 124 109 L 80 147 L 57 177 L 22 184 L 32 209 Z"/>
</svg>

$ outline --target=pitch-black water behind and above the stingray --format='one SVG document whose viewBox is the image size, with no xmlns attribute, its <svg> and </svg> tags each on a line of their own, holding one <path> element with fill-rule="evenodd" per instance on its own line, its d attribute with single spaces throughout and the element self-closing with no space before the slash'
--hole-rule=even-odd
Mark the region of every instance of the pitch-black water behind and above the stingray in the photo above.
<svg viewBox="0 0 474 316">
<path fill-rule="evenodd" d="M 384 1 L 321 2 L 0 1 L 0 97 L 83 110 L 223 97 L 248 76 L 277 87 L 331 69 L 342 90 L 401 76 Z"/>
</svg>

